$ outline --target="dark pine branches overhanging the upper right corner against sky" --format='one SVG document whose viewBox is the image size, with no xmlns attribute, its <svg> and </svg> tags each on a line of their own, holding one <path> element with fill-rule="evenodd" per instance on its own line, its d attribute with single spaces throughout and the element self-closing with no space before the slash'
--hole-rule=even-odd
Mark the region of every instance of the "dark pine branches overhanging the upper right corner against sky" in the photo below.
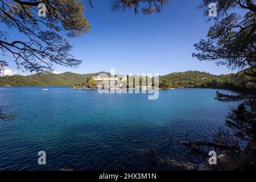
<svg viewBox="0 0 256 182">
<path fill-rule="evenodd" d="M 256 66 L 256 5 L 254 0 L 204 0 L 200 6 L 208 15 L 209 3 L 217 4 L 217 17 L 208 39 L 195 44 L 199 60 L 216 61 L 232 69 Z M 245 9 L 243 16 L 234 13 Z"/>
</svg>

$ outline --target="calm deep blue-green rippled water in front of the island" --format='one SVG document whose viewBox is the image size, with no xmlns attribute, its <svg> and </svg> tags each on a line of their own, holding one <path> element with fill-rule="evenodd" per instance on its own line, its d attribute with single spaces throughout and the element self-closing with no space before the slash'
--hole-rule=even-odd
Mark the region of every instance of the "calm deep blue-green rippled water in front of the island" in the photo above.
<svg viewBox="0 0 256 182">
<path fill-rule="evenodd" d="M 214 100 L 216 91 L 159 90 L 158 100 L 148 100 L 147 94 L 0 87 L 0 105 L 17 114 L 0 121 L 0 170 L 175 169 L 152 162 L 150 148 L 165 158 L 202 163 L 204 158 L 188 155 L 176 141 L 187 141 L 187 132 L 191 139 L 211 140 L 225 127 L 238 104 Z M 39 151 L 46 151 L 44 166 Z"/>
</svg>

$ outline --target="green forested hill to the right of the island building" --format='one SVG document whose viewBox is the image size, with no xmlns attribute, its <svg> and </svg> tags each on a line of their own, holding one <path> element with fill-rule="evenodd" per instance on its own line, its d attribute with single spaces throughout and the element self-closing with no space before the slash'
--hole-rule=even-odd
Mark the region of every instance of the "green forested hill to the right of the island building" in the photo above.
<svg viewBox="0 0 256 182">
<path fill-rule="evenodd" d="M 170 83 L 174 88 L 222 88 L 238 92 L 256 93 L 256 69 L 245 69 L 229 75 L 212 75 L 207 72 L 187 71 L 160 76 L 160 87 Z"/>
</svg>

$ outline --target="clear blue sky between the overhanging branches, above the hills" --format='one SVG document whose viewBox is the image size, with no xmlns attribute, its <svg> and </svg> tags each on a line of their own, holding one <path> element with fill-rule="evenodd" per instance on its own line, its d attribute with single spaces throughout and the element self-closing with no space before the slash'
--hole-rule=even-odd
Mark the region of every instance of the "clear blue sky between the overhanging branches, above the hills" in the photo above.
<svg viewBox="0 0 256 182">
<path fill-rule="evenodd" d="M 188 70 L 216 75 L 232 72 L 225 66 L 217 67 L 191 56 L 195 52 L 193 44 L 206 37 L 213 23 L 206 21 L 202 10 L 196 9 L 201 0 L 171 0 L 161 13 L 151 15 L 135 15 L 133 9 L 114 12 L 110 1 L 93 0 L 93 9 L 87 0 L 83 2 L 85 16 L 92 24 L 90 33 L 69 39 L 72 55 L 81 59 L 82 64 L 76 69 L 56 66 L 56 72 L 110 72 L 111 68 L 116 73 L 160 75 Z M 9 61 L 9 69 L 16 72 L 13 58 L 5 56 L 5 60 Z"/>
</svg>

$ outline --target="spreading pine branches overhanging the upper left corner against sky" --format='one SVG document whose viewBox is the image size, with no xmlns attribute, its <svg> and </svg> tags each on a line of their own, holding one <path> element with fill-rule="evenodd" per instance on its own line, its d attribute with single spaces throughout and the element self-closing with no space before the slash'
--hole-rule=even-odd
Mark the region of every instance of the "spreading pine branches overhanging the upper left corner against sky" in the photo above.
<svg viewBox="0 0 256 182">
<path fill-rule="evenodd" d="M 39 16 L 39 3 L 46 5 L 46 16 Z M 72 46 L 59 35 L 80 36 L 89 31 L 84 6 L 77 0 L 0 1 L 0 21 L 26 38 L 13 40 L 9 32 L 0 31 L 3 54 L 15 57 L 18 68 L 28 71 L 52 70 L 54 64 L 77 67 L 81 60 L 69 54 Z"/>
</svg>

